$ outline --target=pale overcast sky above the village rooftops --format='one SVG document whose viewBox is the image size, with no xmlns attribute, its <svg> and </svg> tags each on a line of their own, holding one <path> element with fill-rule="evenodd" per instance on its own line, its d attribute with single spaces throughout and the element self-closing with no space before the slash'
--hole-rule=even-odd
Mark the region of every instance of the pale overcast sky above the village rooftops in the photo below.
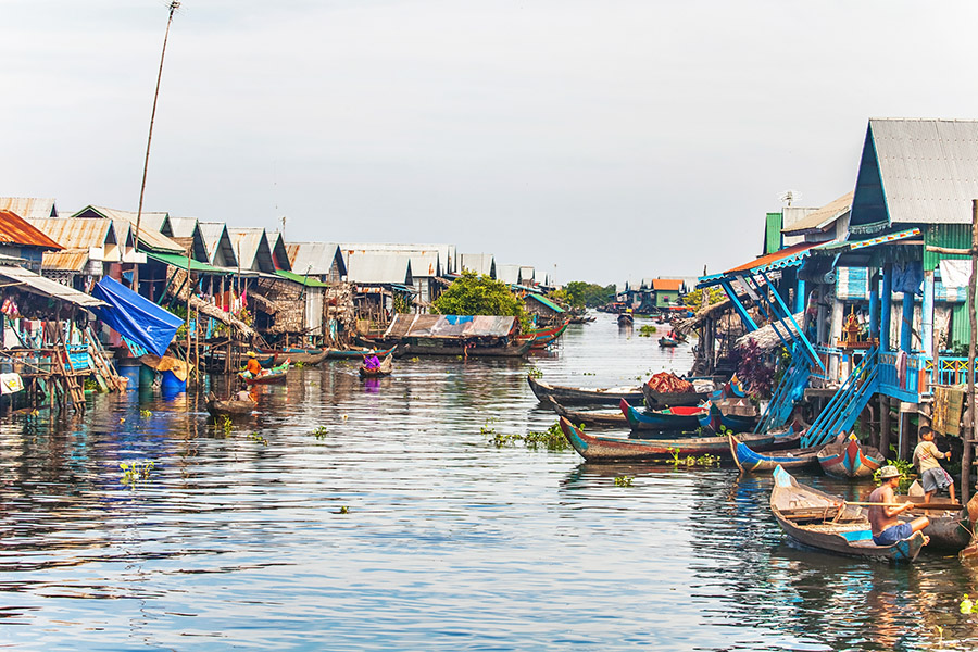
<svg viewBox="0 0 978 652">
<path fill-rule="evenodd" d="M 0 196 L 139 202 L 165 0 L 0 0 Z M 855 186 L 870 117 L 978 117 L 978 3 L 185 0 L 143 210 L 723 272 Z"/>
</svg>

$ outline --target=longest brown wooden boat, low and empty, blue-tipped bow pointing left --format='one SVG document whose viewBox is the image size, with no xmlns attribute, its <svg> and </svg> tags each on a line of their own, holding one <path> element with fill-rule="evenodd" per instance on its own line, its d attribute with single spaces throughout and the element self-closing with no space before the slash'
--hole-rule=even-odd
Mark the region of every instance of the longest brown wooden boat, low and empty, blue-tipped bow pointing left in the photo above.
<svg viewBox="0 0 978 652">
<path fill-rule="evenodd" d="M 682 437 L 678 439 L 625 439 L 589 435 L 565 417 L 560 418 L 561 429 L 570 446 L 588 462 L 628 460 L 664 460 L 677 455 L 730 454 L 726 437 Z M 754 446 L 772 444 L 770 435 L 745 435 Z"/>
</svg>

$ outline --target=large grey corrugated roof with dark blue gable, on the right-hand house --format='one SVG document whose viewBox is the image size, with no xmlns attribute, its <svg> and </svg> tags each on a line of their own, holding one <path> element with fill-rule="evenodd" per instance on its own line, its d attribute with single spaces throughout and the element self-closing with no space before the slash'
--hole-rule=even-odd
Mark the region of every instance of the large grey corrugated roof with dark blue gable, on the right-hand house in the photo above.
<svg viewBox="0 0 978 652">
<path fill-rule="evenodd" d="M 976 197 L 978 122 L 869 121 L 851 228 L 970 223 Z"/>
</svg>

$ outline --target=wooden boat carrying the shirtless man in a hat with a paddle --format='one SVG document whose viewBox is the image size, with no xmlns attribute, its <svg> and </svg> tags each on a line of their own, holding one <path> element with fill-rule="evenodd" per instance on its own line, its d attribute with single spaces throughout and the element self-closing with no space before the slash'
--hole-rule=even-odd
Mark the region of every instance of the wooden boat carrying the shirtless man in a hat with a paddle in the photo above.
<svg viewBox="0 0 978 652">
<path fill-rule="evenodd" d="M 877 546 L 862 507 L 798 484 L 780 466 L 775 468 L 774 477 L 770 511 L 795 543 L 833 554 L 891 562 L 912 562 L 924 547 L 920 532 L 892 546 Z"/>
</svg>

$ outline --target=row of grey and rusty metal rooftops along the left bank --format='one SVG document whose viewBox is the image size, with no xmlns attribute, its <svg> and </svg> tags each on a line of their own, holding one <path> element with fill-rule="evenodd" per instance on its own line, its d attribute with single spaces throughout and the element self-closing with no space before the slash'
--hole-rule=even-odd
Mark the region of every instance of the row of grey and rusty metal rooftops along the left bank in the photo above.
<svg viewBox="0 0 978 652">
<path fill-rule="evenodd" d="M 53 199 L 0 198 L 0 243 L 45 248 L 43 268 L 57 272 L 82 272 L 89 261 L 143 262 L 139 251 L 170 263 L 186 264 L 189 256 L 193 268 L 214 273 L 290 272 L 319 280 L 412 285 L 471 269 L 514 286 L 540 285 L 532 266 L 498 265 L 492 254 L 459 254 L 453 244 L 286 241 L 280 231 L 260 227 L 165 212 L 137 217 L 96 205 L 61 216 Z"/>
</svg>

